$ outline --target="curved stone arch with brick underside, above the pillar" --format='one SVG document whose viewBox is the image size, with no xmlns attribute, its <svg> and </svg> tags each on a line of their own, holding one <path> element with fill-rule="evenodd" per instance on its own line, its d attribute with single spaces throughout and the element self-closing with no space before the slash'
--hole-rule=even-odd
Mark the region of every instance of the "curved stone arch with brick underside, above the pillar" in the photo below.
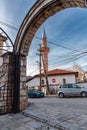
<svg viewBox="0 0 87 130">
<path fill-rule="evenodd" d="M 72 7 L 85 7 L 84 0 L 37 0 L 27 13 L 15 40 L 15 51 L 27 55 L 40 25 L 55 13 Z"/>
</svg>

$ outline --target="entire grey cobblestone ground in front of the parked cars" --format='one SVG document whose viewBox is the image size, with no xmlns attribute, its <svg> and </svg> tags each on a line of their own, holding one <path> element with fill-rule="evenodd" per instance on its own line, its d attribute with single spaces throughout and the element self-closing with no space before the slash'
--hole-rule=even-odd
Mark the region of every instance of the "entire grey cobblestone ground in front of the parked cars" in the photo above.
<svg viewBox="0 0 87 130">
<path fill-rule="evenodd" d="M 87 98 L 29 99 L 25 111 L 0 116 L 0 130 L 87 130 Z"/>
</svg>

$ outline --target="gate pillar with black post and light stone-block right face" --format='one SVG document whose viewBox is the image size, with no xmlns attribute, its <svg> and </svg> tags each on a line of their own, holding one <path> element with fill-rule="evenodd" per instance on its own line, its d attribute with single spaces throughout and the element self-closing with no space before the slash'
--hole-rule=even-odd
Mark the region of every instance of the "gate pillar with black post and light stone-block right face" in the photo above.
<svg viewBox="0 0 87 130">
<path fill-rule="evenodd" d="M 15 55 L 13 112 L 18 113 L 27 106 L 26 56 Z"/>
</svg>

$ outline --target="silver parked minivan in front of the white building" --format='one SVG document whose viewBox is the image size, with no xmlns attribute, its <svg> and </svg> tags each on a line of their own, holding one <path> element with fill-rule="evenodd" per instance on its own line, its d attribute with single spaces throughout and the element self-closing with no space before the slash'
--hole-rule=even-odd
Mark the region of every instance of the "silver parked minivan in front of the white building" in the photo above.
<svg viewBox="0 0 87 130">
<path fill-rule="evenodd" d="M 62 84 L 58 89 L 58 96 L 82 96 L 87 97 L 87 88 L 78 86 L 77 84 Z"/>
</svg>

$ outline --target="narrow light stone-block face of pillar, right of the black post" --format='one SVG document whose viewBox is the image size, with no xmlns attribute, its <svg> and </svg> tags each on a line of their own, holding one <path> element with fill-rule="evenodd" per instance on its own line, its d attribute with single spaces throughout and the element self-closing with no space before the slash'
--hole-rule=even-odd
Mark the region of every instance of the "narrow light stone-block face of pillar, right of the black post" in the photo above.
<svg viewBox="0 0 87 130">
<path fill-rule="evenodd" d="M 20 111 L 27 107 L 26 57 L 20 57 Z"/>
</svg>

